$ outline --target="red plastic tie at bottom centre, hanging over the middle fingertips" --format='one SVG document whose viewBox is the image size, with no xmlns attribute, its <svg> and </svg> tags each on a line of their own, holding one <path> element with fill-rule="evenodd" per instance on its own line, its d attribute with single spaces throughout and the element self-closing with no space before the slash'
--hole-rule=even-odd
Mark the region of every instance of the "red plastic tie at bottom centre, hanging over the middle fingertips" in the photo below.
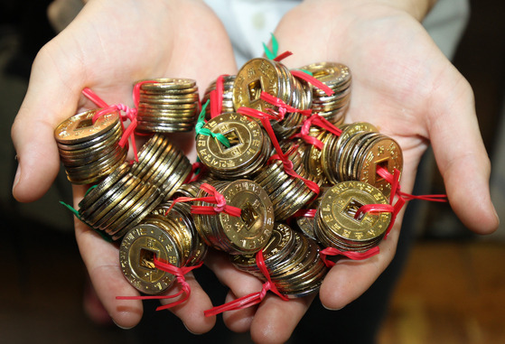
<svg viewBox="0 0 505 344">
<path fill-rule="evenodd" d="M 263 299 L 267 295 L 268 291 L 275 293 L 283 301 L 289 300 L 285 295 L 283 295 L 282 293 L 280 293 L 277 290 L 276 284 L 274 284 L 272 282 L 270 274 L 268 273 L 267 265 L 265 265 L 265 260 L 263 258 L 263 250 L 260 250 L 257 252 L 256 264 L 257 264 L 257 267 L 259 268 L 259 270 L 261 271 L 261 273 L 265 276 L 265 278 L 267 278 L 267 282 L 265 282 L 263 284 L 261 291 L 257 292 L 257 293 L 250 293 L 250 294 L 242 296 L 234 301 L 231 301 L 231 302 L 222 304 L 220 306 L 213 307 L 210 310 L 204 311 L 203 313 L 205 314 L 206 317 L 220 314 L 223 311 L 236 311 L 236 310 L 242 310 L 244 308 L 254 306 L 255 304 L 263 301 Z"/>
</svg>

